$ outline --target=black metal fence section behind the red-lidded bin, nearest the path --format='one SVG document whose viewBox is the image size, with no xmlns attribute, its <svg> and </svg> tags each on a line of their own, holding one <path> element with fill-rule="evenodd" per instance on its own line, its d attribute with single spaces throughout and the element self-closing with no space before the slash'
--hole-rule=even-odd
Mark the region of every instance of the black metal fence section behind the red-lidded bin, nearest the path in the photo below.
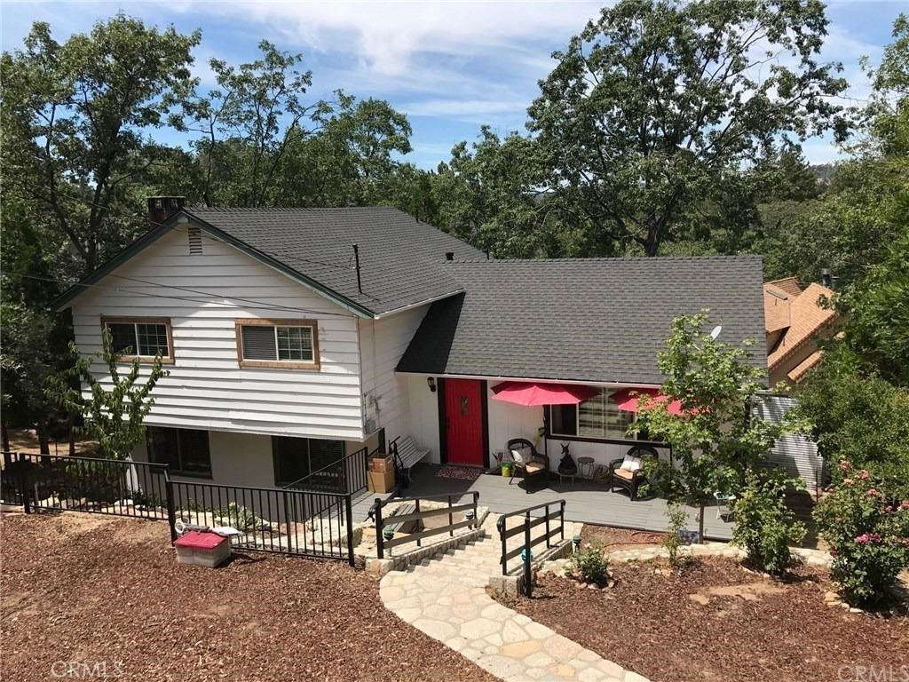
<svg viewBox="0 0 909 682">
<path fill-rule="evenodd" d="M 175 525 L 230 527 L 238 549 L 346 559 L 354 565 L 353 506 L 340 493 L 173 481 Z"/>
</svg>

